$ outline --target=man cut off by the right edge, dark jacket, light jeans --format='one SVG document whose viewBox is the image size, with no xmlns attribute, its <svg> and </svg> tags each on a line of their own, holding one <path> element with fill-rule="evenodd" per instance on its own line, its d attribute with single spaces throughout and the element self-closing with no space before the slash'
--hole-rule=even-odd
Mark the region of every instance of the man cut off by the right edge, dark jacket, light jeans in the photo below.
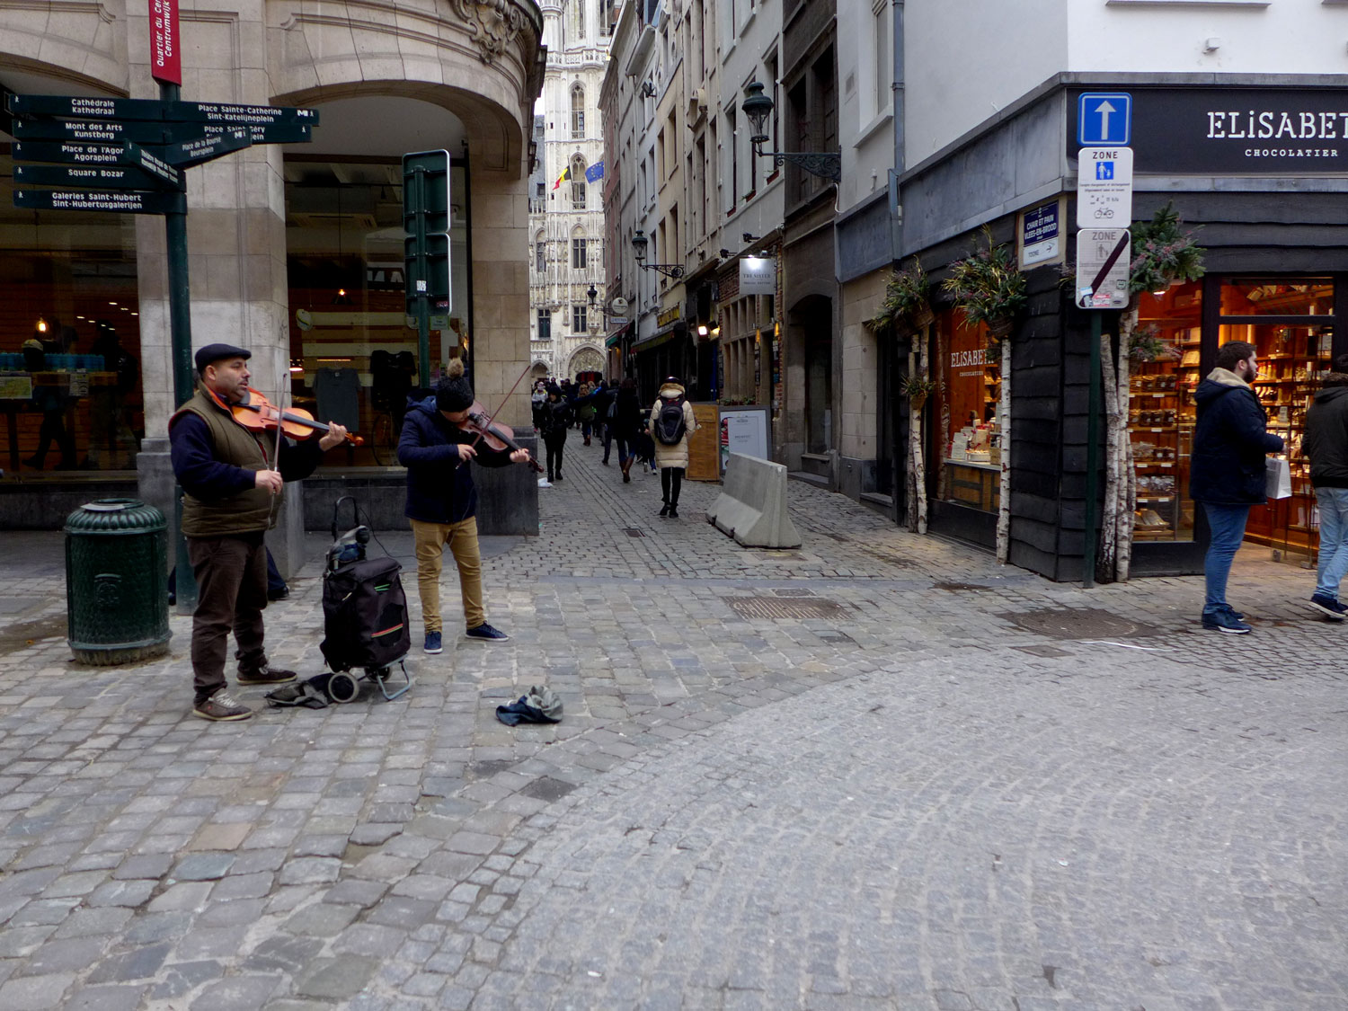
<svg viewBox="0 0 1348 1011">
<path fill-rule="evenodd" d="M 1343 621 L 1339 584 L 1348 574 L 1348 355 L 1330 372 L 1306 411 L 1302 449 L 1310 460 L 1310 483 L 1320 507 L 1320 565 L 1310 607 L 1330 621 Z"/>
</svg>

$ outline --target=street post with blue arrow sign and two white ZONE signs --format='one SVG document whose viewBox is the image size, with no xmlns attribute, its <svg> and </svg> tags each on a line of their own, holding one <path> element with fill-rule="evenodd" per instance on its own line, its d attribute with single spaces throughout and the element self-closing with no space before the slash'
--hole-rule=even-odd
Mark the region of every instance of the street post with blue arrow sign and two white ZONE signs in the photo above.
<svg viewBox="0 0 1348 1011">
<path fill-rule="evenodd" d="M 1082 585 L 1095 585 L 1096 488 L 1100 470 L 1100 311 L 1128 307 L 1132 263 L 1132 96 L 1086 92 L 1077 98 L 1077 291 L 1091 313 L 1091 394 Z"/>
</svg>

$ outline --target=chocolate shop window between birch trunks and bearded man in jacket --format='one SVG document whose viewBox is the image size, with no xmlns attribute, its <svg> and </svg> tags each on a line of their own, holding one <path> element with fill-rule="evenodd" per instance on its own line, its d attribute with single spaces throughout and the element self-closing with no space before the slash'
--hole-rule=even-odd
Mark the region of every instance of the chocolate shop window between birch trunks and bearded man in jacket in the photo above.
<svg viewBox="0 0 1348 1011">
<path fill-rule="evenodd" d="M 1128 438 L 1136 487 L 1135 541 L 1193 541 L 1189 456 L 1193 394 L 1202 379 L 1202 284 L 1143 293 L 1138 359 L 1128 387 Z M 1140 349 L 1146 349 L 1143 355 Z"/>
</svg>

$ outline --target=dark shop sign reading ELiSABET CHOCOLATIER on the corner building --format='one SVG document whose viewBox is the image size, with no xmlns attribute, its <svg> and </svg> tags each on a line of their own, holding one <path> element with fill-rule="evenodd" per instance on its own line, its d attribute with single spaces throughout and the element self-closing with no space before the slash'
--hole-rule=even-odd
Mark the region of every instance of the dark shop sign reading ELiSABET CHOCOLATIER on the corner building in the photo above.
<svg viewBox="0 0 1348 1011">
<path fill-rule="evenodd" d="M 1093 89 L 1100 90 L 1100 89 Z M 1138 173 L 1318 175 L 1348 171 L 1348 89 L 1140 88 L 1132 97 Z M 1069 92 L 1077 152 L 1078 92 Z"/>
</svg>

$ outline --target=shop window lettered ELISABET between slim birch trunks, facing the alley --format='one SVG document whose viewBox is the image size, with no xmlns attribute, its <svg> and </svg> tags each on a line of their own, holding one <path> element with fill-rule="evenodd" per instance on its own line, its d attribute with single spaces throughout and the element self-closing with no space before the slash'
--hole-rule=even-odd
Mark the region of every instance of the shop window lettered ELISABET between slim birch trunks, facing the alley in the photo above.
<svg viewBox="0 0 1348 1011">
<path fill-rule="evenodd" d="M 936 363 L 937 497 L 996 512 L 1002 349 L 985 326 L 969 326 L 964 313 L 946 310 L 937 319 Z"/>
</svg>

